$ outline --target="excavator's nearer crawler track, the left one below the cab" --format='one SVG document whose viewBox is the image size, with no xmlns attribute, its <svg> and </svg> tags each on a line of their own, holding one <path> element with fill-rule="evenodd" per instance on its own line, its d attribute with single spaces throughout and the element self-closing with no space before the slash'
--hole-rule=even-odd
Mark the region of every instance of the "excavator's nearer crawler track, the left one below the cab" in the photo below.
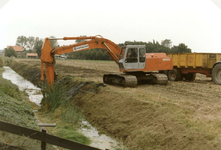
<svg viewBox="0 0 221 150">
<path fill-rule="evenodd" d="M 127 74 L 104 74 L 103 82 L 111 85 L 120 85 L 125 87 L 136 87 L 137 78 L 134 75 Z"/>
</svg>

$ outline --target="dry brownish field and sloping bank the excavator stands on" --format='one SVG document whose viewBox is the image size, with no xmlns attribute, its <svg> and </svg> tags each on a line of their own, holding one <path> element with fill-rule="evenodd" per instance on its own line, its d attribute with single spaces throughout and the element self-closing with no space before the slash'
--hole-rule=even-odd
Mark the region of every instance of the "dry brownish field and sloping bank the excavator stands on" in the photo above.
<svg viewBox="0 0 221 150">
<path fill-rule="evenodd" d="M 15 71 L 40 83 L 40 60 L 15 61 Z M 118 72 L 115 62 L 57 60 L 55 70 L 90 123 L 131 149 L 221 149 L 221 86 L 211 78 L 124 88 L 102 84 L 104 73 Z"/>
</svg>

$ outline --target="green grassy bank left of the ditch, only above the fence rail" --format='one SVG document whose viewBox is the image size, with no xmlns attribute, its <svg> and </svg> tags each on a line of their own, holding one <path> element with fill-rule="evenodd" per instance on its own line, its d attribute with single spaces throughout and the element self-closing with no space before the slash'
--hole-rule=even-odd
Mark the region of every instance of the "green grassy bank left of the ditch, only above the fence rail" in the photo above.
<svg viewBox="0 0 221 150">
<path fill-rule="evenodd" d="M 0 74 L 4 71 L 0 68 Z M 1 120 L 39 129 L 35 123 L 34 114 L 31 107 L 23 101 L 26 98 L 25 93 L 19 91 L 18 87 L 11 81 L 3 79 L 0 76 L 0 116 Z"/>
</svg>

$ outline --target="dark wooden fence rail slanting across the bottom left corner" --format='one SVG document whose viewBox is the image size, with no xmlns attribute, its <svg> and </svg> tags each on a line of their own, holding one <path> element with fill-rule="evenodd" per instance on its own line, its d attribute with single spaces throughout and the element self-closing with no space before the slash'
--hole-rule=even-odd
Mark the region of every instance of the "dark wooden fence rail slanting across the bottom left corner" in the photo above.
<svg viewBox="0 0 221 150">
<path fill-rule="evenodd" d="M 84 144 L 56 137 L 54 135 L 50 135 L 45 132 L 28 129 L 4 121 L 0 121 L 0 130 L 17 135 L 26 136 L 35 140 L 40 140 L 45 143 L 49 143 L 52 145 L 60 146 L 71 150 L 99 150 L 98 148 L 90 147 Z"/>
</svg>

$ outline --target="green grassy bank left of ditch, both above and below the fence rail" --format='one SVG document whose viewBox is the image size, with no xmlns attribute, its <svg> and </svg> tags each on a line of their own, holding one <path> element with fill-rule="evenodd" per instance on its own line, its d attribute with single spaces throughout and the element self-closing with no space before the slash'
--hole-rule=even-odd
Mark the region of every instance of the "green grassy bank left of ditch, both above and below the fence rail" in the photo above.
<svg viewBox="0 0 221 150">
<path fill-rule="evenodd" d="M 37 126 L 31 106 L 25 101 L 27 96 L 18 87 L 2 78 L 4 69 L 0 68 L 0 120 L 40 130 Z M 41 142 L 28 137 L 17 136 L 0 131 L 0 142 L 24 149 L 40 149 Z M 53 149 L 47 146 L 47 149 Z"/>
</svg>

